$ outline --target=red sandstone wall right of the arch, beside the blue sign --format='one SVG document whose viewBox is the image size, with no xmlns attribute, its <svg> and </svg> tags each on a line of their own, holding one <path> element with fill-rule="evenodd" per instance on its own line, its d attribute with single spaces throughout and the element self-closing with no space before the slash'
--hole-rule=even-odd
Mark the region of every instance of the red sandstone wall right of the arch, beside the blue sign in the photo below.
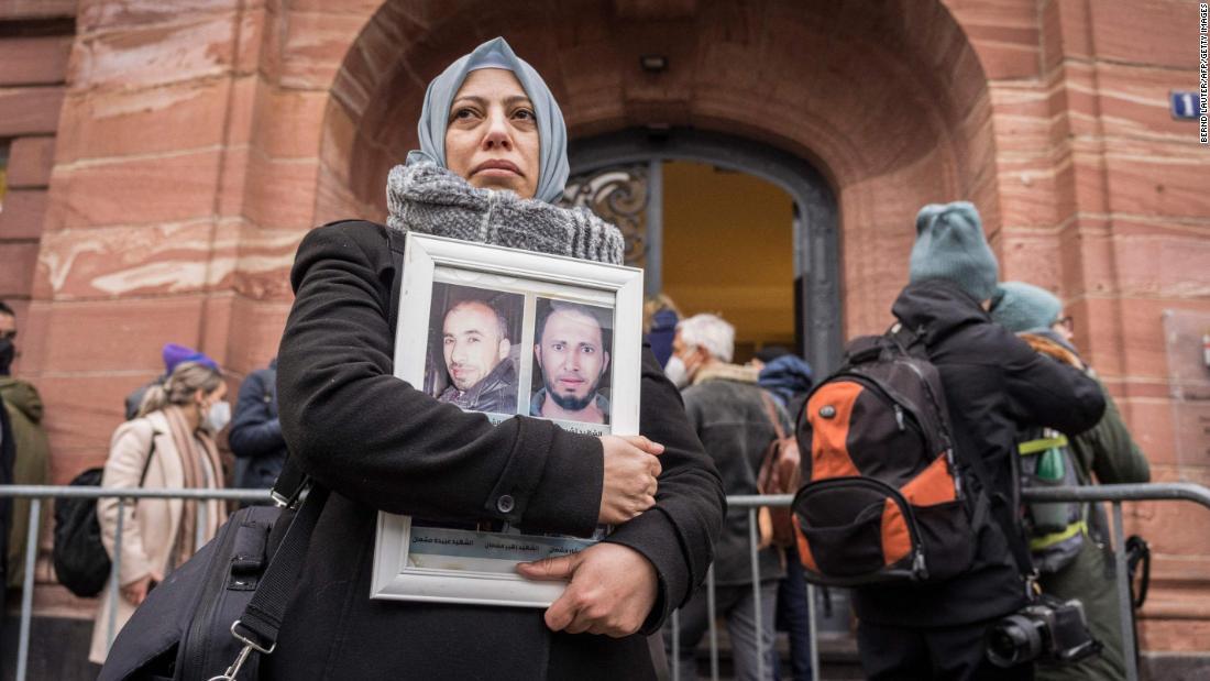
<svg viewBox="0 0 1210 681">
<path fill-rule="evenodd" d="M 1180 434 L 1203 446 L 1176 464 L 1162 319 L 1210 312 L 1210 156 L 1168 109 L 1170 90 L 1197 82 L 1197 2 L 951 5 L 989 71 L 1002 276 L 1064 298 L 1153 479 L 1210 484 L 1205 433 Z M 1143 646 L 1206 650 L 1210 512 L 1127 508 L 1162 584 Z"/>
</svg>

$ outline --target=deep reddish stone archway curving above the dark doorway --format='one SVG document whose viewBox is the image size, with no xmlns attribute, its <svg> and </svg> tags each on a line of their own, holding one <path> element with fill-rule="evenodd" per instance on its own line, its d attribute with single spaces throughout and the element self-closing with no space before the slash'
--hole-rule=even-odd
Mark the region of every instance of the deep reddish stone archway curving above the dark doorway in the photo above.
<svg viewBox="0 0 1210 681">
<path fill-rule="evenodd" d="M 465 17 L 477 17 L 467 30 Z M 834 6 L 762 0 L 388 1 L 335 76 L 324 121 L 318 220 L 381 217 L 384 178 L 415 145 L 427 81 L 503 35 L 543 74 L 574 139 L 690 127 L 807 158 L 836 191 L 846 335 L 880 329 L 906 278 L 921 204 L 969 198 L 998 227 L 987 80 L 939 2 Z M 667 58 L 647 73 L 640 56 Z"/>
</svg>

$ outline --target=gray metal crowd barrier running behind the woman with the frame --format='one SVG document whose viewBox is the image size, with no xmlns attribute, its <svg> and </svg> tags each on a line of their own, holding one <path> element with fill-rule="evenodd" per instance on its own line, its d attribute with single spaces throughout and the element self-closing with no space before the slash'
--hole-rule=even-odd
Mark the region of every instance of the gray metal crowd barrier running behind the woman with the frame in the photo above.
<svg viewBox="0 0 1210 681">
<path fill-rule="evenodd" d="M 1210 508 L 1210 489 L 1203 487 L 1202 485 L 1195 485 L 1192 483 L 1162 483 L 1162 484 L 1142 484 L 1142 485 L 1096 485 L 1096 486 L 1083 486 L 1083 487 L 1053 487 L 1053 489 L 1027 489 L 1022 490 L 1022 501 L 1041 501 L 1041 502 L 1068 502 L 1068 501 L 1082 501 L 1082 502 L 1111 502 L 1113 504 L 1113 554 L 1117 564 L 1117 587 L 1118 587 L 1118 601 L 1119 601 L 1119 613 L 1122 619 L 1122 644 L 1123 654 L 1127 664 L 1127 679 L 1130 681 L 1137 681 L 1139 669 L 1135 662 L 1135 641 L 1134 641 L 1134 619 L 1130 605 L 1130 583 L 1129 573 L 1127 570 L 1127 554 L 1125 554 L 1125 542 L 1124 542 L 1124 529 L 1122 521 L 1122 503 L 1127 501 L 1192 501 L 1199 503 L 1206 508 Z M 110 573 L 110 590 L 114 591 L 115 598 L 110 599 L 110 610 L 108 613 L 108 641 L 111 644 L 114 640 L 114 629 L 116 622 L 116 604 L 117 604 L 117 573 L 121 567 L 121 546 L 122 546 L 122 508 L 129 500 L 138 498 L 180 498 L 180 500 L 195 500 L 195 501 L 211 501 L 211 500 L 223 500 L 223 501 L 247 501 L 247 502 L 270 502 L 270 496 L 267 490 L 171 490 L 171 489 L 159 489 L 159 490 L 144 490 L 144 489 L 103 489 L 103 487 L 80 487 L 80 486 L 40 486 L 40 485 L 0 485 L 0 498 L 13 497 L 13 498 L 28 498 L 30 500 L 29 506 L 29 531 L 25 536 L 25 575 L 24 582 L 22 583 L 22 595 L 21 595 L 21 629 L 17 645 L 17 681 L 24 681 L 28 660 L 29 660 L 29 628 L 30 621 L 33 618 L 33 599 L 34 599 L 34 570 L 38 558 L 38 538 L 41 533 L 41 519 L 42 519 L 42 500 L 44 498 L 100 498 L 100 497 L 117 497 L 119 500 L 119 514 L 117 514 L 117 527 L 115 531 L 115 550 L 114 569 Z M 748 548 L 749 548 L 749 564 L 751 566 L 753 575 L 753 596 L 755 599 L 755 621 L 757 623 L 762 619 L 761 601 L 760 601 L 760 565 L 757 560 L 757 521 L 756 514 L 761 507 L 778 507 L 789 506 L 793 500 L 790 495 L 774 495 L 774 496 L 731 496 L 727 497 L 727 503 L 730 508 L 743 508 L 748 512 Z M 201 529 L 206 524 L 206 506 L 198 506 L 198 523 L 197 526 Z M 200 544 L 202 539 L 201 530 L 196 537 Z M 808 608 L 808 623 L 809 623 L 809 641 L 811 646 L 811 669 L 813 679 L 819 679 L 819 647 L 818 636 L 816 631 L 816 599 L 814 589 L 807 584 L 807 608 Z M 711 681 L 719 680 L 719 640 L 718 630 L 715 623 L 715 604 L 714 604 L 714 571 L 713 569 L 707 572 L 707 613 L 709 617 L 709 641 L 710 641 L 710 679 Z M 680 681 L 680 656 L 679 653 L 679 613 L 673 612 L 672 616 L 672 656 L 669 659 L 669 665 L 672 669 L 673 681 Z M 764 656 L 756 656 L 757 660 L 757 676 L 760 679 L 766 679 L 765 665 L 768 662 Z M 691 674 L 696 675 L 696 670 L 690 670 Z M 797 680 L 796 680 L 797 681 Z"/>
</svg>

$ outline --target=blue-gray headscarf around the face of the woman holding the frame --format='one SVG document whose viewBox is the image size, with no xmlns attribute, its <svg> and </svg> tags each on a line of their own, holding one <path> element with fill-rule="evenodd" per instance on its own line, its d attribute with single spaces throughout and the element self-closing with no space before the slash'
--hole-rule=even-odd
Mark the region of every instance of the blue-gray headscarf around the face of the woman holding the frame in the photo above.
<svg viewBox="0 0 1210 681">
<path fill-rule="evenodd" d="M 489 40 L 469 54 L 449 65 L 442 75 L 428 83 L 425 105 L 420 111 L 420 150 L 408 154 L 408 165 L 431 161 L 443 168 L 445 165 L 445 127 L 449 122 L 450 104 L 467 74 L 478 69 L 505 69 L 512 71 L 534 103 L 537 134 L 541 149 L 537 191 L 535 198 L 551 203 L 563 196 L 567 183 L 567 127 L 563 122 L 559 104 L 551 94 L 542 76 L 518 57 L 503 37 Z"/>
</svg>

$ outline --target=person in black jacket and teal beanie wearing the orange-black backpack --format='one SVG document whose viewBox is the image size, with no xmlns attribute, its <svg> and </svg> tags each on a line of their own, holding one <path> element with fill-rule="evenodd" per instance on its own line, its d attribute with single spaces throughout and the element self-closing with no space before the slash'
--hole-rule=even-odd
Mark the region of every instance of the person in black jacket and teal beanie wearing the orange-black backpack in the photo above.
<svg viewBox="0 0 1210 681">
<path fill-rule="evenodd" d="M 941 584 L 897 583 L 854 590 L 862 665 L 872 680 L 1032 679 L 1032 664 L 987 662 L 987 627 L 1026 602 L 1026 581 L 1009 550 L 1016 525 L 1015 437 L 1027 423 L 1065 433 L 1096 425 L 1105 410 L 1096 382 L 1041 357 L 984 308 L 997 262 L 979 213 L 966 202 L 926 206 L 916 219 L 911 283 L 892 311 L 920 335 L 940 373 L 960 463 L 980 457 L 992 515 L 974 537 L 972 566 Z"/>
</svg>

